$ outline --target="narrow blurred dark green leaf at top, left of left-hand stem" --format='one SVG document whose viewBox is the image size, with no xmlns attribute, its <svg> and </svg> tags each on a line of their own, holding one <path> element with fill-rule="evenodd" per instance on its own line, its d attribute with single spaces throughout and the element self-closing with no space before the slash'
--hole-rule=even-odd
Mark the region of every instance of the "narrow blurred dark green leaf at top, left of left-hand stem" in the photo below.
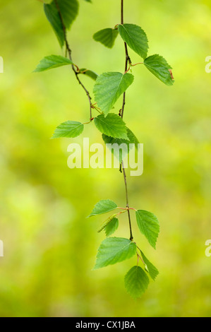
<svg viewBox="0 0 211 332">
<path fill-rule="evenodd" d="M 52 25 L 54 32 L 56 33 L 59 44 L 61 45 L 61 47 L 63 47 L 65 40 L 64 30 L 54 2 L 52 2 L 51 4 L 44 4 L 44 13 L 47 17 L 47 20 L 49 20 L 49 23 Z"/>
</svg>

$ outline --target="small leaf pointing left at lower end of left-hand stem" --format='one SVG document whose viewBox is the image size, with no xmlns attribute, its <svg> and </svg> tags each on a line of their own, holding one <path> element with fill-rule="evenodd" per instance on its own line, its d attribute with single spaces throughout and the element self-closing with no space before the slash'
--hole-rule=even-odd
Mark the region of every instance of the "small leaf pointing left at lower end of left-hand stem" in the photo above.
<svg viewBox="0 0 211 332">
<path fill-rule="evenodd" d="M 76 137 L 83 132 L 83 124 L 77 121 L 66 121 L 56 127 L 52 138 Z"/>
</svg>

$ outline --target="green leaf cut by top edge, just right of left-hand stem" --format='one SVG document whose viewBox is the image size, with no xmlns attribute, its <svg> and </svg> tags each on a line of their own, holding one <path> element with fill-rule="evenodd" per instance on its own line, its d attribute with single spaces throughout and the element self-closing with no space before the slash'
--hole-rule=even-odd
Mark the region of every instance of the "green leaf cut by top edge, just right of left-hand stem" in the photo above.
<svg viewBox="0 0 211 332">
<path fill-rule="evenodd" d="M 78 15 L 78 0 L 57 0 L 64 25 L 67 29 L 71 28 L 73 21 Z"/>
</svg>

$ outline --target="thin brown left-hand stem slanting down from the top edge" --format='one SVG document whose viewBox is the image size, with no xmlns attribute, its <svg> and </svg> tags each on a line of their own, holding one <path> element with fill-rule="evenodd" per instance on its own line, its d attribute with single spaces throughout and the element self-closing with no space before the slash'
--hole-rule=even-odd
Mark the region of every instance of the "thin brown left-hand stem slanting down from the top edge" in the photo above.
<svg viewBox="0 0 211 332">
<path fill-rule="evenodd" d="M 73 61 L 72 59 L 72 51 L 71 51 L 71 48 L 70 48 L 70 45 L 68 44 L 68 40 L 67 40 L 67 37 L 66 37 L 66 26 L 64 25 L 64 20 L 61 16 L 61 11 L 60 11 L 60 8 L 59 8 L 59 4 L 57 2 L 57 0 L 54 0 L 54 3 L 56 5 L 56 8 L 57 8 L 57 11 L 59 13 L 59 18 L 61 20 L 61 25 L 62 25 L 62 28 L 63 28 L 63 31 L 64 31 L 64 40 L 65 40 L 65 45 L 66 45 L 66 54 L 68 53 L 68 57 L 71 61 Z M 82 86 L 83 90 L 85 91 L 86 95 L 88 96 L 88 100 L 89 100 L 89 104 L 90 104 L 90 120 L 92 119 L 92 98 L 90 97 L 90 93 L 89 91 L 85 88 L 85 86 L 83 85 L 83 83 L 80 81 L 80 78 L 78 77 L 78 74 L 79 72 L 76 71 L 75 69 L 75 66 L 72 65 L 72 69 L 76 75 L 76 78 L 77 78 L 77 81 L 78 83 Z"/>
</svg>

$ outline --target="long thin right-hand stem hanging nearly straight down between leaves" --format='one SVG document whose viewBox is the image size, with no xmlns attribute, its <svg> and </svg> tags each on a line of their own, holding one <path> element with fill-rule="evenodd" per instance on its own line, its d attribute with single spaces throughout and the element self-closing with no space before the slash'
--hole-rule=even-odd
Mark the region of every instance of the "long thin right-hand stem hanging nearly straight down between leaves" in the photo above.
<svg viewBox="0 0 211 332">
<path fill-rule="evenodd" d="M 121 0 L 121 24 L 123 24 L 123 0 Z M 125 47 L 125 53 L 126 53 L 126 64 L 125 64 L 125 71 L 128 70 L 128 62 L 131 62 L 131 59 L 128 55 L 128 47 L 126 42 L 124 42 L 124 47 Z M 121 119 L 123 118 L 123 111 L 124 107 L 126 105 L 126 93 L 123 93 L 123 103 L 121 107 Z M 128 222 L 129 222 L 129 227 L 130 227 L 130 240 L 133 241 L 133 232 L 132 232 L 132 225 L 131 225 L 131 214 L 129 210 L 129 201 L 128 201 L 128 184 L 127 184 L 127 179 L 126 179 L 126 170 L 123 166 L 123 160 L 121 161 L 121 168 L 123 170 L 123 179 L 124 179 L 124 184 L 125 184 L 125 189 L 126 189 L 126 208 L 128 211 Z"/>
</svg>

